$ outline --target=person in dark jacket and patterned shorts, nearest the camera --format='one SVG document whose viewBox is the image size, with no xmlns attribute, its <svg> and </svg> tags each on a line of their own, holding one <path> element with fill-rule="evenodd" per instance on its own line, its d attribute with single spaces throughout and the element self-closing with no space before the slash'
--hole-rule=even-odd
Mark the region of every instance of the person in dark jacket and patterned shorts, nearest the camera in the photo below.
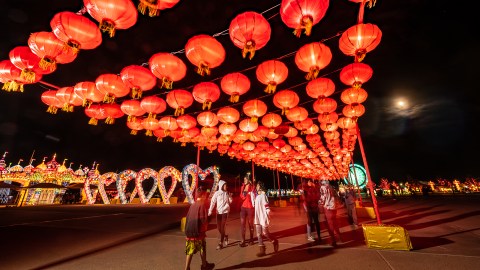
<svg viewBox="0 0 480 270">
<path fill-rule="evenodd" d="M 200 252 L 202 259 L 202 270 L 210 270 L 215 264 L 207 262 L 207 245 L 205 241 L 205 232 L 208 229 L 207 207 L 205 205 L 206 193 L 197 189 L 195 202 L 188 209 L 185 222 L 185 236 L 187 242 L 185 245 L 185 270 L 190 270 L 193 254 Z"/>
</svg>

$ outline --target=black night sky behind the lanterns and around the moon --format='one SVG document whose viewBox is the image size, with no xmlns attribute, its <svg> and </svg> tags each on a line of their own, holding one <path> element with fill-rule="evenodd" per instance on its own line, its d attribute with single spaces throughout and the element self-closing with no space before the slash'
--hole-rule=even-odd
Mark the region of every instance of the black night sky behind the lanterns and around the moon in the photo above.
<svg viewBox="0 0 480 270">
<path fill-rule="evenodd" d="M 81 51 L 73 63 L 58 65 L 43 81 L 64 87 L 94 81 L 103 73 L 119 73 L 127 65 L 147 62 L 156 52 L 183 49 L 193 35 L 213 35 L 226 30 L 239 13 L 262 12 L 279 3 L 279 0 L 182 0 L 174 8 L 162 11 L 159 17 L 139 14 L 134 27 L 118 30 L 113 38 L 103 35 L 98 48 Z M 474 120 L 480 115 L 476 68 L 480 63 L 480 38 L 474 27 L 478 15 L 468 5 L 451 1 L 377 0 L 375 7 L 366 8 L 365 22 L 378 25 L 383 33 L 380 45 L 363 61 L 373 68 L 374 74 L 363 85 L 369 97 L 364 103 L 366 114 L 359 119 L 374 181 L 378 182 L 381 177 L 390 180 L 458 177 L 463 180 L 480 176 L 477 165 L 480 147 L 474 132 L 478 130 Z M 31 33 L 51 31 L 49 23 L 56 13 L 76 12 L 81 7 L 82 1 L 0 0 L 0 59 L 8 59 L 9 51 L 15 46 L 26 46 Z M 313 27 L 312 35 L 301 38 L 295 37 L 292 29 L 283 24 L 278 12 L 276 7 L 264 14 L 266 18 L 272 17 L 269 20 L 272 37 L 252 60 L 242 59 L 240 49 L 232 44 L 228 35 L 218 37 L 227 51 L 227 59 L 213 69 L 209 77 L 197 75 L 185 55 L 178 54 L 188 71 L 182 81 L 174 83 L 174 88 L 191 90 L 198 82 L 256 66 L 294 52 L 304 44 L 330 37 L 333 38 L 325 44 L 332 50 L 332 62 L 320 74 L 331 73 L 327 77 L 334 80 L 336 91 L 347 88 L 335 71 L 353 59 L 341 53 L 338 37 L 334 36 L 355 24 L 358 5 L 347 0 L 331 0 L 327 14 Z M 282 59 L 289 67 L 289 77 L 279 89 L 305 81 L 293 58 Z M 250 78 L 252 87 L 241 101 L 264 95 L 264 87 L 256 80 L 254 69 L 244 74 Z M 49 114 L 47 106 L 40 101 L 41 93 L 47 89 L 34 84 L 27 85 L 24 93 L 0 92 L 0 152 L 9 152 L 7 162 L 16 164 L 22 158 L 25 160 L 22 165 L 27 165 L 33 150 L 37 160 L 34 164 L 44 156 L 57 153 L 59 162 L 68 158 L 68 162 L 74 162 L 75 169 L 79 164 L 90 166 L 97 161 L 101 172 L 159 169 L 166 165 L 181 169 L 196 162 L 196 148 L 192 145 L 181 147 L 169 138 L 158 143 L 155 137 L 146 137 L 143 133 L 130 135 L 126 117 L 114 125 L 91 126 L 82 108 L 76 108 L 73 113 Z M 295 88 L 299 94 L 304 93 L 304 89 Z M 341 104 L 339 94 L 333 98 Z M 400 98 L 407 101 L 408 109 L 397 109 L 395 104 Z M 227 99 L 224 95 L 212 108 L 226 106 Z M 305 107 L 314 113 L 311 105 Z M 200 110 L 201 104 L 195 102 L 186 113 Z M 164 114 L 173 114 L 173 109 L 168 108 Z M 354 161 L 362 163 L 358 144 Z M 214 164 L 220 166 L 220 173 L 231 175 L 251 168 L 243 161 L 202 151 L 201 167 Z M 258 170 L 263 177 L 272 175 Z"/>
</svg>

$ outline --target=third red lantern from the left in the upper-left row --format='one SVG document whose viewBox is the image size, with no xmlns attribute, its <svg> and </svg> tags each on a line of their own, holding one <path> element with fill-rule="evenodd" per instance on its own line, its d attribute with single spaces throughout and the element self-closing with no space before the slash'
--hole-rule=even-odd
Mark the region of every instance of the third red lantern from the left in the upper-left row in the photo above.
<svg viewBox="0 0 480 270">
<path fill-rule="evenodd" d="M 28 47 L 41 58 L 38 66 L 43 70 L 55 71 L 57 56 L 63 52 L 64 43 L 52 32 L 37 32 L 28 38 Z"/>
</svg>

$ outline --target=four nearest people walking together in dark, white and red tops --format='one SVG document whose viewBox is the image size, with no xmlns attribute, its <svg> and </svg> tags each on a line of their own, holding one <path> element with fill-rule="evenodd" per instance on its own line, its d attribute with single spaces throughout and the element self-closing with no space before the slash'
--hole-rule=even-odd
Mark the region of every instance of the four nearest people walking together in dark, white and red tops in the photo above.
<svg viewBox="0 0 480 270">
<path fill-rule="evenodd" d="M 240 222 L 242 240 L 240 247 L 254 244 L 253 231 L 257 232 L 259 251 L 258 257 L 265 256 L 266 248 L 263 237 L 273 244 L 275 252 L 278 251 L 278 240 L 275 239 L 269 232 L 270 225 L 270 208 L 268 205 L 268 197 L 265 193 L 265 185 L 258 181 L 254 183 L 247 174 L 244 177 L 243 184 L 240 188 Z M 201 269 L 213 269 L 215 264 L 209 263 L 206 260 L 206 242 L 205 232 L 208 229 L 208 216 L 213 214 L 216 209 L 217 229 L 219 232 L 219 243 L 217 250 L 220 250 L 228 245 L 228 235 L 226 234 L 226 224 L 228 214 L 230 212 L 230 205 L 233 201 L 232 194 L 228 192 L 227 183 L 223 180 L 219 181 L 218 190 L 212 196 L 210 206 L 206 206 L 206 194 L 200 188 L 197 189 L 195 196 L 195 203 L 190 206 L 186 217 L 185 235 L 186 242 L 186 262 L 185 269 L 190 269 L 190 263 L 193 254 L 199 252 L 202 259 Z M 246 240 L 247 228 L 249 232 L 249 239 Z"/>
</svg>

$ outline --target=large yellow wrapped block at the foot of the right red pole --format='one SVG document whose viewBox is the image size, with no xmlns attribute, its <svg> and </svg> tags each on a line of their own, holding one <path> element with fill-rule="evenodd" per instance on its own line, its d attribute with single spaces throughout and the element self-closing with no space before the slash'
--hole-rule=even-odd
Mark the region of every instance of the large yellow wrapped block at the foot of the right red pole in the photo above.
<svg viewBox="0 0 480 270">
<path fill-rule="evenodd" d="M 407 230 L 398 225 L 363 224 L 363 235 L 368 248 L 411 250 Z"/>
</svg>

